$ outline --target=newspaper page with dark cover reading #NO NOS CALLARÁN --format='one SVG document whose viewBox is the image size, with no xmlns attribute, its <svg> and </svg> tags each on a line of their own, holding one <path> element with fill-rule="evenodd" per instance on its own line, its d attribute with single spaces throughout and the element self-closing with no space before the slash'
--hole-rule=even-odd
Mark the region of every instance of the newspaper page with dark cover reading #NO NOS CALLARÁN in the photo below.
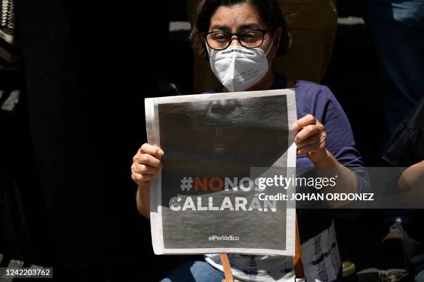
<svg viewBox="0 0 424 282">
<path fill-rule="evenodd" d="M 293 205 L 264 200 L 294 187 L 258 188 L 271 170 L 295 175 L 294 89 L 147 98 L 145 118 L 165 152 L 150 182 L 155 254 L 294 256 Z"/>
</svg>

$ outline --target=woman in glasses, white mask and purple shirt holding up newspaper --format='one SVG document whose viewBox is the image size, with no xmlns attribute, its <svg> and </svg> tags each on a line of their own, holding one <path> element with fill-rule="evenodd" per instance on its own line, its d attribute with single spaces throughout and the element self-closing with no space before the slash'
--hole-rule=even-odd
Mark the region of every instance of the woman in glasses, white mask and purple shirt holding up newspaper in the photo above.
<svg viewBox="0 0 424 282">
<path fill-rule="evenodd" d="M 222 88 L 211 93 L 287 88 L 287 79 L 270 69 L 277 55 L 290 46 L 285 17 L 276 0 L 202 0 L 192 22 L 193 48 L 211 63 Z M 358 193 L 368 180 L 355 149 L 351 126 L 331 91 L 313 82 L 294 83 L 297 118 L 297 167 L 337 168 L 337 189 Z M 260 144 L 258 144 L 260 146 Z M 139 211 L 149 217 L 149 185 L 163 166 L 161 148 L 143 144 L 133 159 L 132 179 L 138 184 Z M 363 171 L 363 170 L 360 170 Z M 336 203 L 335 206 L 343 204 Z M 311 281 L 335 281 L 341 261 L 335 239 L 333 214 L 327 210 L 298 211 L 299 234 L 305 275 Z M 325 255 L 324 255 L 325 254 Z M 229 255 L 233 275 L 240 281 L 293 281 L 292 259 L 285 256 Z M 218 255 L 185 263 L 163 281 L 221 281 Z"/>
</svg>

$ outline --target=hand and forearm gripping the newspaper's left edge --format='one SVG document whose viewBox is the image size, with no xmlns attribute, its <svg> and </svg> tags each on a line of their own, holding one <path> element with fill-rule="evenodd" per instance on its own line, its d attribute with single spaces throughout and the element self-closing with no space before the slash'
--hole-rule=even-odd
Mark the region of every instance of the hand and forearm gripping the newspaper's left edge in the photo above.
<svg viewBox="0 0 424 282">
<path fill-rule="evenodd" d="M 150 179 L 163 167 L 163 155 L 161 148 L 144 143 L 132 158 L 131 178 L 139 186 L 137 208 L 147 218 L 150 217 Z"/>
</svg>

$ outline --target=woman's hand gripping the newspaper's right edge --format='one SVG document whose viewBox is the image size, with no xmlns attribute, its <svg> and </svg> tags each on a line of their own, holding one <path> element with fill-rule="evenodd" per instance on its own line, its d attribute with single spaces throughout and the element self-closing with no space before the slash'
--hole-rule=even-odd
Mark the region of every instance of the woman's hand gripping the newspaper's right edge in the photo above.
<svg viewBox="0 0 424 282">
<path fill-rule="evenodd" d="M 297 135 L 294 137 L 297 155 L 306 154 L 313 163 L 326 158 L 327 134 L 324 129 L 324 125 L 312 114 L 307 114 L 295 121 L 293 130 L 297 130 Z"/>
</svg>

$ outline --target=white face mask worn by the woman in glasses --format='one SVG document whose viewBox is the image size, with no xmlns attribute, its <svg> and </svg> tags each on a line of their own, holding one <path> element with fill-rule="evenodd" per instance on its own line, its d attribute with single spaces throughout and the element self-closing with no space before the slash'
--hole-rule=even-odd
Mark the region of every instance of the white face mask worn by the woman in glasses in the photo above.
<svg viewBox="0 0 424 282">
<path fill-rule="evenodd" d="M 206 44 L 211 69 L 228 91 L 245 91 L 260 82 L 267 73 L 269 69 L 267 55 L 273 42 L 274 38 L 267 53 L 260 48 L 248 49 L 242 46 L 209 51 L 209 46 Z"/>
</svg>

